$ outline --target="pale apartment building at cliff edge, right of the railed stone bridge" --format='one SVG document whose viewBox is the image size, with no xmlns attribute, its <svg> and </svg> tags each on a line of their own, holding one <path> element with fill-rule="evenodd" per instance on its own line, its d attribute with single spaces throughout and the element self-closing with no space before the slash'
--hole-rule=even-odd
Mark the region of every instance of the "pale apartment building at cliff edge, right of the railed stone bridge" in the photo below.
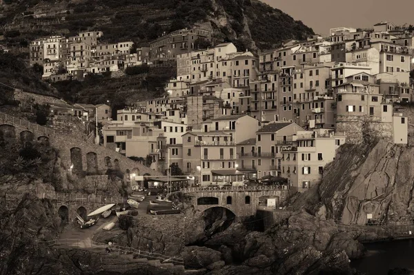
<svg viewBox="0 0 414 275">
<path fill-rule="evenodd" d="M 345 143 L 344 133 L 317 129 L 297 131 L 290 144 L 283 145 L 280 176 L 293 190 L 303 192 L 322 180 L 324 167 L 335 159 L 337 148 Z"/>
</svg>

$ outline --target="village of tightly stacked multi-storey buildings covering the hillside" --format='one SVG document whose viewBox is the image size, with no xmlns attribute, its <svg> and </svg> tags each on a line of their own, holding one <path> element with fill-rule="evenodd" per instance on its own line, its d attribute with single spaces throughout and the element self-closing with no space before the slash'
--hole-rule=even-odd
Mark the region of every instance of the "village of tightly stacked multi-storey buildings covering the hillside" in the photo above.
<svg viewBox="0 0 414 275">
<path fill-rule="evenodd" d="M 211 40 L 199 28 L 164 34 L 137 49 L 131 41 L 101 44 L 102 35 L 37 39 L 30 43 L 30 63 L 42 63 L 43 77 L 59 81 L 175 62 L 168 96 L 118 110 L 116 120 L 101 105 L 106 114 L 97 118 L 104 146 L 149 156 L 158 172 L 179 167 L 199 185 L 277 176 L 302 191 L 321 181 L 344 143 L 408 143 L 408 118 L 394 107 L 413 101 L 414 38 L 393 23 L 333 28 L 329 37 L 286 41 L 259 56 L 233 43 L 196 50 L 197 39 Z M 77 108 L 73 115 L 90 112 L 95 119 L 96 106 Z"/>
</svg>

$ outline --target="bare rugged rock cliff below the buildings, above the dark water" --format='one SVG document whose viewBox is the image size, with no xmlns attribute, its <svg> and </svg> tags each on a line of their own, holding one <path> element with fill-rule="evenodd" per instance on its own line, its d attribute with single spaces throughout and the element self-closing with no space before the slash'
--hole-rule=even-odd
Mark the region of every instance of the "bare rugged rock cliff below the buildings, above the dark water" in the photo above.
<svg viewBox="0 0 414 275">
<path fill-rule="evenodd" d="M 412 223 L 414 148 L 380 141 L 375 145 L 344 145 L 326 167 L 319 186 L 302 194 L 297 207 L 345 224 Z M 368 215 L 368 216 L 367 216 Z"/>
</svg>

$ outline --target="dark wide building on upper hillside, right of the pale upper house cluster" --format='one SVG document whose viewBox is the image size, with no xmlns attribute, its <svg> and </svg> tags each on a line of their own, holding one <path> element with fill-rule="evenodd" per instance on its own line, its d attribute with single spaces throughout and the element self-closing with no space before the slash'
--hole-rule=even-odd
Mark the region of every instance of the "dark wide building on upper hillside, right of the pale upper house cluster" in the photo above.
<svg viewBox="0 0 414 275">
<path fill-rule="evenodd" d="M 203 39 L 211 41 L 211 33 L 200 28 L 176 30 L 164 34 L 150 43 L 150 59 L 175 59 L 177 54 L 195 50 L 195 41 Z"/>
</svg>

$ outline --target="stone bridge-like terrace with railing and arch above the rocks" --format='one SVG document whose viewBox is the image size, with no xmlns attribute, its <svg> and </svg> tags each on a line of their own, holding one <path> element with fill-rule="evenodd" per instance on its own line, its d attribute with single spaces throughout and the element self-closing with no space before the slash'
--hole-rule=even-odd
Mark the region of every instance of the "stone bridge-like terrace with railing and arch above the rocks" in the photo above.
<svg viewBox="0 0 414 275">
<path fill-rule="evenodd" d="M 289 196 L 286 186 L 189 187 L 181 192 L 192 196 L 196 210 L 224 207 L 237 217 L 254 216 L 260 198 L 276 198 L 276 205 L 279 205 Z"/>
</svg>

